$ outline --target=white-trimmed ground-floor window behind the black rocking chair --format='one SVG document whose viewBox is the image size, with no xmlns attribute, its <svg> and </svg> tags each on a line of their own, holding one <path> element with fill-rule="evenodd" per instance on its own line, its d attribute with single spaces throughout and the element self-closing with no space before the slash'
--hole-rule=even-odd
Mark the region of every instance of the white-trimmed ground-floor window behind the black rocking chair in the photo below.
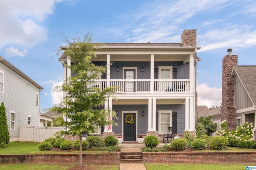
<svg viewBox="0 0 256 170">
<path fill-rule="evenodd" d="M 159 111 L 159 132 L 167 133 L 172 127 L 172 111 Z"/>
</svg>

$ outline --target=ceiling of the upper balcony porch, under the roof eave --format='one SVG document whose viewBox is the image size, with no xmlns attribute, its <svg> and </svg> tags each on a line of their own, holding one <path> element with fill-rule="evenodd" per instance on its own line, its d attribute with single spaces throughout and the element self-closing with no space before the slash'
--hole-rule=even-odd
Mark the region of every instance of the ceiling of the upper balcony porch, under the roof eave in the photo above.
<svg viewBox="0 0 256 170">
<path fill-rule="evenodd" d="M 155 54 L 154 61 L 186 61 L 190 54 Z M 99 54 L 92 61 L 106 61 L 106 54 Z M 110 61 L 150 61 L 149 54 L 112 54 Z"/>
</svg>

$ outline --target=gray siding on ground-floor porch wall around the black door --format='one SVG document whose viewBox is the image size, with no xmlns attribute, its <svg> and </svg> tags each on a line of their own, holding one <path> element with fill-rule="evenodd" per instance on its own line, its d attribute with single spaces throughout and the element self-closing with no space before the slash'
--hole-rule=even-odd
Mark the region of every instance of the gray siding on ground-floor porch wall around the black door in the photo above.
<svg viewBox="0 0 256 170">
<path fill-rule="evenodd" d="M 148 105 L 113 105 L 112 110 L 118 113 L 118 120 L 113 119 L 118 126 L 113 126 L 115 134 L 122 134 L 122 111 L 138 111 L 138 134 L 146 134 L 148 130 Z M 172 110 L 172 125 L 176 133 L 183 133 L 185 129 L 185 105 L 156 105 L 156 130 L 158 130 L 158 111 Z M 144 116 L 142 116 L 144 111 Z"/>
</svg>

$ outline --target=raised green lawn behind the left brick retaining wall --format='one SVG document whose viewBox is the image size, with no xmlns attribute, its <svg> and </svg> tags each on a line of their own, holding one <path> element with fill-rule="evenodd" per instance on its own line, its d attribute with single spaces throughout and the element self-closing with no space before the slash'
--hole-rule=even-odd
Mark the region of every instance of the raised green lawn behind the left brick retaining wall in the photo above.
<svg viewBox="0 0 256 170">
<path fill-rule="evenodd" d="M 50 153 L 79 153 L 79 151 L 72 152 L 57 152 L 57 151 L 47 151 L 39 150 L 39 143 L 32 142 L 9 142 L 5 148 L 0 148 L 0 154 L 50 154 Z M 83 153 L 108 153 L 105 151 L 82 151 Z"/>
</svg>

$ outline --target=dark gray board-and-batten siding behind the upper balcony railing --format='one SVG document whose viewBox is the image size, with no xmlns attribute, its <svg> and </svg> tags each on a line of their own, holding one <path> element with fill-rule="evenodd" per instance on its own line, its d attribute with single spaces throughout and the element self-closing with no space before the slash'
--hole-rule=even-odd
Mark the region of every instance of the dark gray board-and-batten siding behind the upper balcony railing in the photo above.
<svg viewBox="0 0 256 170">
<path fill-rule="evenodd" d="M 106 61 L 93 61 L 95 65 L 106 65 Z M 180 61 L 156 61 L 154 62 L 154 79 L 158 79 L 158 67 L 159 66 L 172 66 L 173 67 L 173 79 L 189 79 L 189 63 L 183 64 Z M 119 67 L 120 71 L 116 71 Z M 110 65 L 110 79 L 122 79 L 123 67 L 137 67 L 137 79 L 150 79 L 150 62 L 149 61 L 114 61 Z M 144 72 L 141 68 L 144 68 Z M 106 75 L 102 75 L 102 79 L 106 79 Z"/>
</svg>

